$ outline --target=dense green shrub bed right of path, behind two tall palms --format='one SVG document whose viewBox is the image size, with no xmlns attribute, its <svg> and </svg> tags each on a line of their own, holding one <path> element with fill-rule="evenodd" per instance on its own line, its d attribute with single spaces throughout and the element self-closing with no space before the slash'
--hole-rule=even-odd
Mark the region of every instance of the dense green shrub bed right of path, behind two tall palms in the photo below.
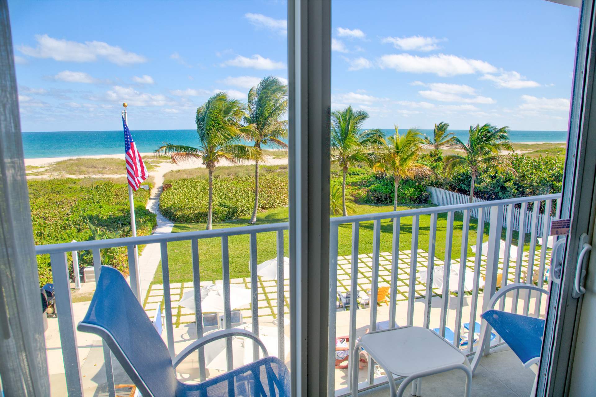
<svg viewBox="0 0 596 397">
<path fill-rule="evenodd" d="M 159 208 L 176 222 L 207 221 L 209 183 L 203 178 L 168 181 L 172 187 L 162 193 Z M 288 180 L 284 173 L 259 177 L 259 208 L 288 204 Z M 213 179 L 213 221 L 225 221 L 250 215 L 254 205 L 254 177 Z"/>
</svg>

